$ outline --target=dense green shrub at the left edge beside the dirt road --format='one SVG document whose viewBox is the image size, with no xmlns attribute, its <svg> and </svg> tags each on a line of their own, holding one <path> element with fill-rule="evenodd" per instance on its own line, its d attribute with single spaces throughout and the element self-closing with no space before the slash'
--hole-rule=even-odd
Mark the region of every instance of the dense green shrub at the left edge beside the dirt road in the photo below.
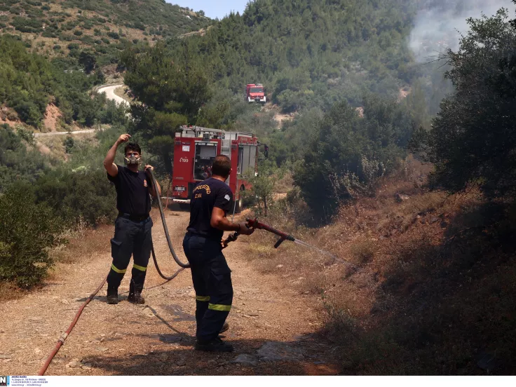
<svg viewBox="0 0 516 387">
<path fill-rule="evenodd" d="M 48 205 L 34 204 L 30 186 L 17 184 L 0 196 L 0 280 L 32 287 L 46 276 L 48 247 L 62 230 Z"/>
</svg>

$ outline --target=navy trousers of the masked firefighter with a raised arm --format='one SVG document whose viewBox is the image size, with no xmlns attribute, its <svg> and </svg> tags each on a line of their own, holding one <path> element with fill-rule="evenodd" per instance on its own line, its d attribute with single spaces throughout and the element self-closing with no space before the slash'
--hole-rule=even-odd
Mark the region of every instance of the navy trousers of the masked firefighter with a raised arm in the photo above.
<svg viewBox="0 0 516 387">
<path fill-rule="evenodd" d="M 116 218 L 115 236 L 111 239 L 111 257 L 113 263 L 107 286 L 118 289 L 133 255 L 133 271 L 129 292 L 141 293 L 147 273 L 152 247 L 152 219 L 148 217 L 142 222 L 135 222 L 123 217 Z"/>
</svg>

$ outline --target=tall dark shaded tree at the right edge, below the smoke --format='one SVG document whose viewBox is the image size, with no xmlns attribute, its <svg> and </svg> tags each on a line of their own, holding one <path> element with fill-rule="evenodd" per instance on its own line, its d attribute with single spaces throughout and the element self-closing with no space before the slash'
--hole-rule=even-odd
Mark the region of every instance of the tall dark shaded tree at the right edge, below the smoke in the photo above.
<svg viewBox="0 0 516 387">
<path fill-rule="evenodd" d="M 456 93 L 442 101 L 419 141 L 435 164 L 435 186 L 456 192 L 474 183 L 487 196 L 514 197 L 516 30 L 505 10 L 468 23 L 459 50 L 446 55 Z"/>
</svg>

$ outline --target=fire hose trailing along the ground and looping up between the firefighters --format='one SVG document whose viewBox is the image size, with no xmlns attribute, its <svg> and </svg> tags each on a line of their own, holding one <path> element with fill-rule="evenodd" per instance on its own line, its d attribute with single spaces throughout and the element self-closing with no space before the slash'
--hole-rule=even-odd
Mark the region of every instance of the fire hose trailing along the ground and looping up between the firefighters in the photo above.
<svg viewBox="0 0 516 387">
<path fill-rule="evenodd" d="M 156 192 L 156 198 L 158 200 L 158 208 L 159 208 L 159 212 L 161 215 L 161 222 L 163 222 L 163 230 L 165 231 L 165 237 L 167 238 L 168 248 L 170 249 L 170 252 L 172 253 L 172 257 L 174 258 L 175 262 L 179 266 L 181 266 L 181 269 L 179 269 L 174 274 L 172 274 L 172 276 L 165 276 L 161 272 L 161 270 L 158 266 L 158 260 L 156 259 L 156 254 L 154 253 L 154 245 L 151 245 L 152 259 L 154 260 L 154 266 L 156 266 L 156 271 L 158 271 L 158 274 L 161 276 L 161 278 L 167 280 L 167 282 L 165 282 L 165 283 L 168 283 L 170 280 L 174 279 L 179 273 L 181 273 L 184 269 L 188 269 L 190 267 L 190 265 L 182 263 L 179 260 L 179 257 L 177 257 L 177 254 L 175 253 L 174 247 L 172 246 L 172 241 L 170 240 L 170 235 L 168 233 L 167 223 L 165 222 L 165 214 L 163 213 L 163 205 L 161 204 L 161 198 L 158 195 L 158 189 L 157 189 L 158 184 L 156 182 L 156 177 L 154 176 L 154 172 L 151 169 L 149 169 L 149 172 L 151 175 L 152 185 L 154 186 L 154 192 Z M 74 329 L 77 321 L 79 321 L 79 318 L 81 317 L 81 314 L 83 313 L 84 308 L 86 308 L 86 305 L 88 305 L 90 303 L 90 301 L 97 295 L 97 293 L 100 292 L 100 290 L 102 289 L 102 287 L 104 286 L 104 283 L 106 283 L 106 281 L 107 281 L 107 277 L 104 278 L 104 280 L 102 280 L 102 283 L 97 287 L 95 292 L 90 294 L 90 296 L 86 299 L 86 301 L 84 301 L 84 303 L 81 305 L 81 307 L 79 308 L 79 311 L 77 311 L 77 313 L 74 317 L 74 320 L 72 320 L 72 323 L 69 325 L 66 332 L 64 332 L 62 334 L 62 336 L 59 338 L 59 340 L 57 340 L 57 343 L 55 344 L 55 347 L 53 348 L 52 352 L 50 353 L 50 355 L 44 362 L 41 369 L 39 369 L 38 376 L 43 376 L 45 374 L 46 370 L 50 366 L 50 362 L 52 362 L 55 355 L 57 355 L 57 352 L 60 350 L 61 346 L 64 344 L 64 341 L 66 341 L 69 334 L 72 333 L 72 330 Z M 164 283 L 162 285 L 164 285 Z"/>
</svg>

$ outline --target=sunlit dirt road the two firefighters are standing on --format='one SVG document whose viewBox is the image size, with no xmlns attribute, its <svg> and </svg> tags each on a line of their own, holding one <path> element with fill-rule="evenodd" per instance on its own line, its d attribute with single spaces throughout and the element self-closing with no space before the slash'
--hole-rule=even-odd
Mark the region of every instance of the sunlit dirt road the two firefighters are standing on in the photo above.
<svg viewBox="0 0 516 387">
<path fill-rule="evenodd" d="M 188 220 L 168 212 L 167 222 L 179 257 Z M 166 274 L 178 268 L 168 252 L 158 213 L 153 213 L 154 245 Z M 0 304 L 0 369 L 3 374 L 36 374 L 84 299 L 107 275 L 113 229 L 92 231 L 81 243 L 105 245 L 100 254 L 59 264 L 43 289 Z M 88 240 L 89 239 L 89 240 Z M 240 238 L 243 239 L 243 238 Z M 277 276 L 258 273 L 246 261 L 248 243 L 225 250 L 233 273 L 234 299 L 226 339 L 235 352 L 194 351 L 194 290 L 188 270 L 163 286 L 149 263 L 146 304 L 126 301 L 130 268 L 120 292 L 108 305 L 106 287 L 86 307 L 47 375 L 253 375 L 336 374 L 330 348 L 314 334 L 320 322 L 316 297 L 299 294 Z M 125 292 L 125 293 L 124 293 Z"/>
</svg>

